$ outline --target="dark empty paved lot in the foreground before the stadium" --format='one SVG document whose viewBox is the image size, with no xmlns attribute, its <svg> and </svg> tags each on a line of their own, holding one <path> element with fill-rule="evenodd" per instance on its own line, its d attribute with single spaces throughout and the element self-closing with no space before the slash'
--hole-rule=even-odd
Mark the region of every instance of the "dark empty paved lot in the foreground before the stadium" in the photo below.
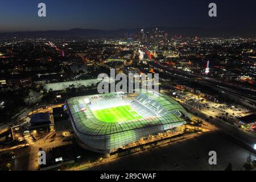
<svg viewBox="0 0 256 182">
<path fill-rule="evenodd" d="M 216 166 L 208 163 L 208 153 L 212 150 L 217 152 Z M 233 170 L 241 170 L 249 154 L 249 151 L 226 138 L 222 131 L 216 131 L 128 155 L 113 162 L 99 164 L 90 170 L 224 170 L 229 162 L 233 163 Z M 252 159 L 255 158 L 256 155 L 253 154 Z"/>
</svg>

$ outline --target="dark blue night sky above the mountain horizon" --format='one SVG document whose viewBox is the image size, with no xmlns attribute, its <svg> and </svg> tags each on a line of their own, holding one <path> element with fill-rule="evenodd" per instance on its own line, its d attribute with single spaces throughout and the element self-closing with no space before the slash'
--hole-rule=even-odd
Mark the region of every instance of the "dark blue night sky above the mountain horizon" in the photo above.
<svg viewBox="0 0 256 182">
<path fill-rule="evenodd" d="M 38 3 L 47 17 L 38 17 Z M 208 16 L 210 2 L 217 18 Z M 137 27 L 255 28 L 255 0 L 0 0 L 0 32 Z"/>
</svg>

